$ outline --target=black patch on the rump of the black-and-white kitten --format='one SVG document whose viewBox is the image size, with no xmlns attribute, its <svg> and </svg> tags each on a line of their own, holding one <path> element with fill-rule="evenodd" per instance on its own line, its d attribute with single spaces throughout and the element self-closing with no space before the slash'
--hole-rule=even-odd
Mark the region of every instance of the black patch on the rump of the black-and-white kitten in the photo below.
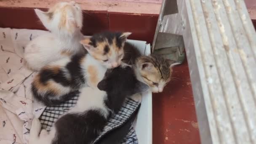
<svg viewBox="0 0 256 144">
<path fill-rule="evenodd" d="M 52 144 L 91 144 L 106 122 L 99 110 L 66 114 L 55 123 L 56 138 Z"/>
</svg>

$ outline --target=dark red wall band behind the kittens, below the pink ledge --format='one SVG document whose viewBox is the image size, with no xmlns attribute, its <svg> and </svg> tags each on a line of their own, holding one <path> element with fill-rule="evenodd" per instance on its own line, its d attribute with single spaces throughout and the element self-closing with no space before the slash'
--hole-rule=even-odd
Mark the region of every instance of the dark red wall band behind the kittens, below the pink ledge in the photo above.
<svg viewBox="0 0 256 144">
<path fill-rule="evenodd" d="M 33 8 L 0 7 L 0 27 L 45 30 Z M 104 30 L 127 31 L 129 39 L 144 40 L 152 44 L 158 15 L 113 13 L 107 11 L 84 11 L 84 35 Z"/>
</svg>

